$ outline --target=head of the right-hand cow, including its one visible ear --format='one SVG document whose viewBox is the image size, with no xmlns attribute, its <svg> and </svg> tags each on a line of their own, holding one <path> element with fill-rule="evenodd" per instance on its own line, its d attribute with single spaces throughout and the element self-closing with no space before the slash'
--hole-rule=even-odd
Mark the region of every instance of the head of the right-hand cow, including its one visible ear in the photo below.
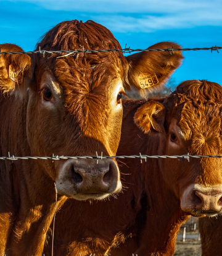
<svg viewBox="0 0 222 256">
<path fill-rule="evenodd" d="M 208 81 L 181 83 L 159 102 L 147 102 L 135 115 L 146 133 L 160 139 L 160 155 L 222 155 L 222 88 Z M 159 160 L 168 188 L 191 215 L 222 212 L 222 159 Z"/>
</svg>

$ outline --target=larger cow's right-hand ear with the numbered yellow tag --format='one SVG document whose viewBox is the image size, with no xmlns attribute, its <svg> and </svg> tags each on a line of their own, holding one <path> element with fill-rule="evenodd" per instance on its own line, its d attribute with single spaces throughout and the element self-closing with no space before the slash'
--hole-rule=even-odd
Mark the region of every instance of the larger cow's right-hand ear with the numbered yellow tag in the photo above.
<svg viewBox="0 0 222 256">
<path fill-rule="evenodd" d="M 147 49 L 167 49 L 181 48 L 173 42 L 162 42 L 154 44 Z M 153 89 L 161 89 L 167 82 L 173 72 L 178 68 L 183 60 L 181 51 L 162 52 L 138 52 L 126 57 L 128 61 L 128 72 L 125 75 L 125 88 L 134 89 L 142 97 L 147 95 Z"/>
</svg>

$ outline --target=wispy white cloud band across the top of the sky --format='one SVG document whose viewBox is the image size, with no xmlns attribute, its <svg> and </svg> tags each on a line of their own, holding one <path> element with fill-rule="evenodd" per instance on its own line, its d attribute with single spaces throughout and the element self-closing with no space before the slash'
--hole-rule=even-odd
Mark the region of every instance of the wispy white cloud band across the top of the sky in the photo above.
<svg viewBox="0 0 222 256">
<path fill-rule="evenodd" d="M 1 1 L 1 0 L 0 0 Z M 14 0 L 19 2 L 20 0 Z M 85 14 L 113 32 L 222 26 L 221 0 L 23 0 L 49 10 Z"/>
</svg>

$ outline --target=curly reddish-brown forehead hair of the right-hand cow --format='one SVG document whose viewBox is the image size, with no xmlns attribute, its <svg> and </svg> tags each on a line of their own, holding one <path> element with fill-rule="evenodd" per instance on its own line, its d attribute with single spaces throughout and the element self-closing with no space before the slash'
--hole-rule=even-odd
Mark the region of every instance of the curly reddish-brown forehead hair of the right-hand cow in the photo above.
<svg viewBox="0 0 222 256">
<path fill-rule="evenodd" d="M 167 123 L 176 118 L 190 152 L 219 154 L 222 130 L 222 87 L 206 80 L 181 83 L 165 100 Z M 210 124 L 210 125 L 209 125 Z"/>
</svg>

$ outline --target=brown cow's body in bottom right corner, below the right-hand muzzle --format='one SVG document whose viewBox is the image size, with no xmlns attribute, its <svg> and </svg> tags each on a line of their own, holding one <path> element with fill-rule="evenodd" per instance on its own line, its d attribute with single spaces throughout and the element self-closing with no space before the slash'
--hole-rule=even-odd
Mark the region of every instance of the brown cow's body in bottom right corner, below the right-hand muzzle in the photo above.
<svg viewBox="0 0 222 256">
<path fill-rule="evenodd" d="M 216 217 L 200 218 L 199 231 L 201 236 L 202 256 L 222 256 L 221 215 Z"/>
</svg>

